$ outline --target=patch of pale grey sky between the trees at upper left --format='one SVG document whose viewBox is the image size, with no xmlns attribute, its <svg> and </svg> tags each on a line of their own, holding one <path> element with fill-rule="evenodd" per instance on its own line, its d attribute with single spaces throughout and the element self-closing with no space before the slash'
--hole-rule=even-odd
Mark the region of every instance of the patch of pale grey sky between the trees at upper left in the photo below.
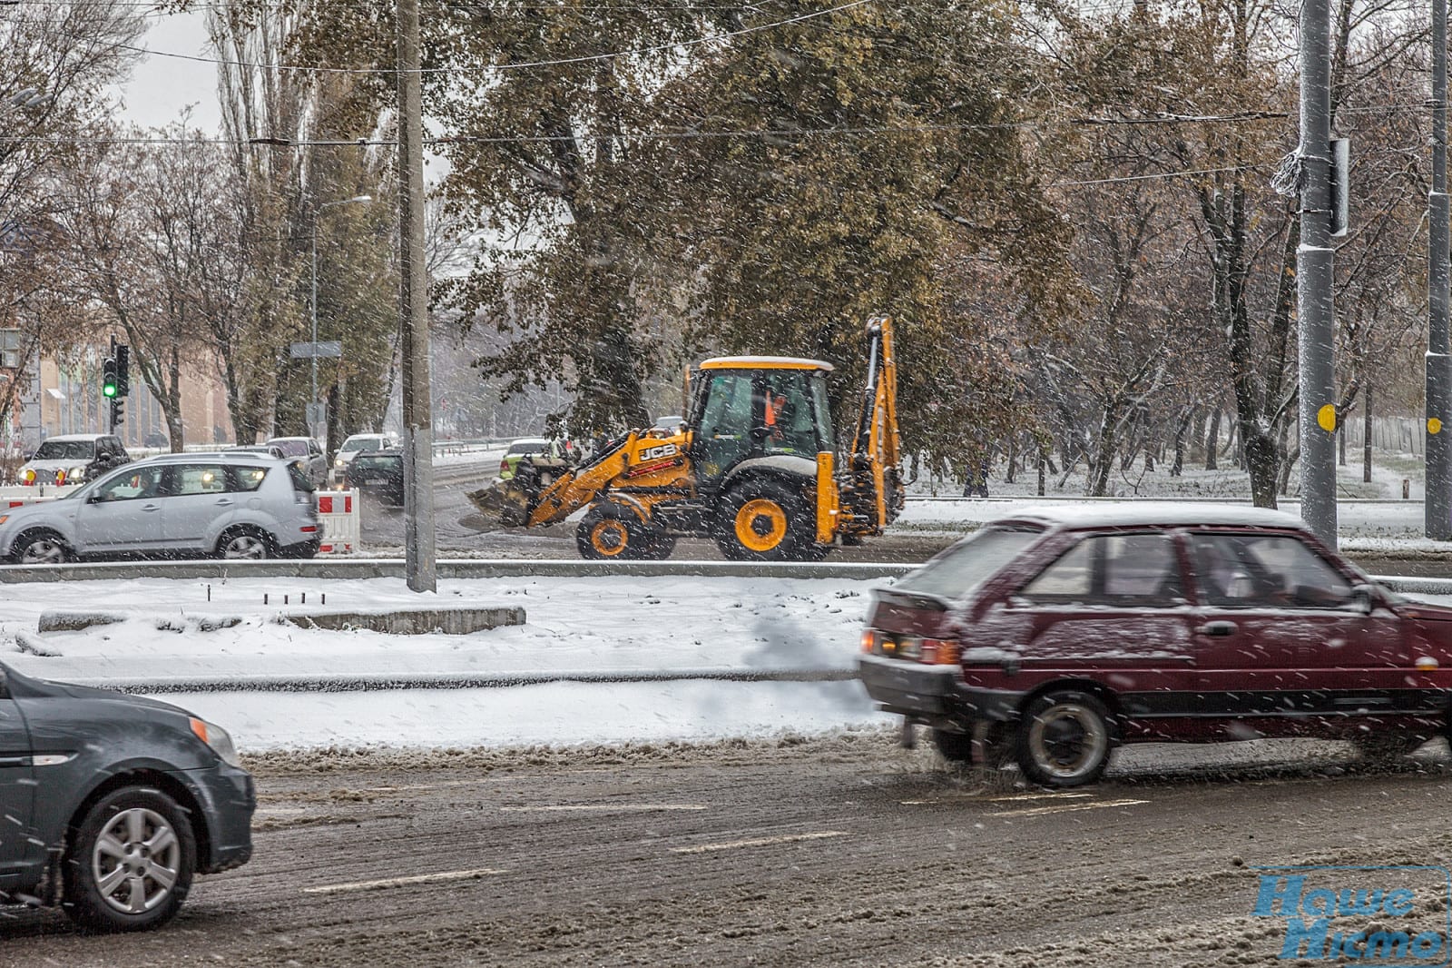
<svg viewBox="0 0 1452 968">
<path fill-rule="evenodd" d="M 152 51 L 212 57 L 206 45 L 206 25 L 202 13 L 151 17 L 151 29 L 142 41 Z M 158 126 L 176 121 L 192 105 L 192 124 L 215 132 L 221 126 L 216 105 L 216 68 L 212 64 L 182 61 L 170 57 L 144 57 L 129 81 L 121 86 L 125 102 L 122 116 L 138 125 Z"/>
</svg>

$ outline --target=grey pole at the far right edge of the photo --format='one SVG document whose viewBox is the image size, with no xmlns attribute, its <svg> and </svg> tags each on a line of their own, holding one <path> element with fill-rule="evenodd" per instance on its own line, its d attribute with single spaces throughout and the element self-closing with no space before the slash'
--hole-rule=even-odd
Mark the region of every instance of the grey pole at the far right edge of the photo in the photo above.
<svg viewBox="0 0 1452 968">
<path fill-rule="evenodd" d="M 1427 538 L 1452 541 L 1452 327 L 1448 324 L 1448 3 L 1432 0 L 1432 192 L 1427 195 Z"/>
</svg>

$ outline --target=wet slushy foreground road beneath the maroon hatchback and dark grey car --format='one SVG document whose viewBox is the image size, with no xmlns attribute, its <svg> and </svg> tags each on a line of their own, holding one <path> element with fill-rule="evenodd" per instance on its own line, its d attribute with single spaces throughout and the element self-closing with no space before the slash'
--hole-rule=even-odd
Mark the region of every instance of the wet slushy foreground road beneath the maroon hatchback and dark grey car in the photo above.
<svg viewBox="0 0 1452 968">
<path fill-rule="evenodd" d="M 1452 767 L 1440 741 L 1420 757 L 1140 747 L 1073 794 L 883 734 L 272 757 L 256 859 L 173 926 L 16 908 L 0 965 L 1295 964 L 1253 868 L 1446 865 Z M 1445 932 L 1445 878 L 1411 887 L 1394 927 Z"/>
</svg>

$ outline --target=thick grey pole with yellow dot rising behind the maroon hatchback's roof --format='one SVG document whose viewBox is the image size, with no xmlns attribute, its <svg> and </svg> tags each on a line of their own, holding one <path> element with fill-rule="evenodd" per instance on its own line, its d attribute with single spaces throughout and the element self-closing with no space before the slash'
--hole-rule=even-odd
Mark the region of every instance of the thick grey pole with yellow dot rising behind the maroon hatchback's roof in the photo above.
<svg viewBox="0 0 1452 968">
<path fill-rule="evenodd" d="M 1301 3 L 1301 517 L 1336 546 L 1336 339 L 1331 249 L 1331 6 Z"/>
</svg>

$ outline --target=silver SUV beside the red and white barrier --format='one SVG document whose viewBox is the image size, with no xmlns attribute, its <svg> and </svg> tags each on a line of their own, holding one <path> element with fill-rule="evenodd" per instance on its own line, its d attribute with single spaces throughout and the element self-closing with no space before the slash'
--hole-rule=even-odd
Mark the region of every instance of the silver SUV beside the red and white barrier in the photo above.
<svg viewBox="0 0 1452 968">
<path fill-rule="evenodd" d="M 322 541 L 312 491 L 296 467 L 263 453 L 166 453 L 0 515 L 0 555 L 17 564 L 132 554 L 311 558 Z"/>
</svg>

